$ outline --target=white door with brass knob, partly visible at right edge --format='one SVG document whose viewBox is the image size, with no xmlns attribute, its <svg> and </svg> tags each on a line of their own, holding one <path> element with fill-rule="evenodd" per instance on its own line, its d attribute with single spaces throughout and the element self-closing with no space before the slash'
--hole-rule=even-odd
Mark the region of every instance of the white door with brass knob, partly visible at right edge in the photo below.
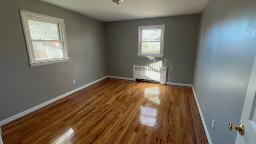
<svg viewBox="0 0 256 144">
<path fill-rule="evenodd" d="M 236 136 L 236 144 L 256 144 L 256 57 L 244 101 L 240 123 L 244 124 L 244 135 Z"/>
</svg>

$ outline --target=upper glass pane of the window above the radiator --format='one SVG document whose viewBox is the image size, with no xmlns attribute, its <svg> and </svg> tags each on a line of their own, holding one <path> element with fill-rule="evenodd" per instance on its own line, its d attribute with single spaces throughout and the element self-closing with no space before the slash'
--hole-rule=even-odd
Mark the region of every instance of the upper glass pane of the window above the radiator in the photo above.
<svg viewBox="0 0 256 144">
<path fill-rule="evenodd" d="M 142 30 L 142 42 L 160 41 L 161 29 Z"/>
</svg>

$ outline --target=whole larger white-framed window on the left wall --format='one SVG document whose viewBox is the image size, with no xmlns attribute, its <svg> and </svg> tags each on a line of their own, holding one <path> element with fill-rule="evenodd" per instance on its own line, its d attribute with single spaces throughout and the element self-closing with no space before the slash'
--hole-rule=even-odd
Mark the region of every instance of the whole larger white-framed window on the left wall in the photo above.
<svg viewBox="0 0 256 144">
<path fill-rule="evenodd" d="M 30 66 L 66 62 L 64 20 L 20 10 Z"/>
</svg>

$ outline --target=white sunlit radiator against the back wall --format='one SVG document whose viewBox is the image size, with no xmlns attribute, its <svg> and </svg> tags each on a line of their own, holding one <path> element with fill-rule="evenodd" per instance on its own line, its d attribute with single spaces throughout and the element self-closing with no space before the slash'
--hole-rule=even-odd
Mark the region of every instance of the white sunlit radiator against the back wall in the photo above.
<svg viewBox="0 0 256 144">
<path fill-rule="evenodd" d="M 166 67 L 133 66 L 133 80 L 156 80 L 166 84 Z"/>
</svg>

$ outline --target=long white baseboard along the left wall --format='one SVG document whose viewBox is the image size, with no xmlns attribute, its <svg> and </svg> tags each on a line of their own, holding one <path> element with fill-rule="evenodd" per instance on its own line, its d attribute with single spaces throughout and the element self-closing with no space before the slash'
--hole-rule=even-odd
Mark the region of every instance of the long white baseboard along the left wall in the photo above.
<svg viewBox="0 0 256 144">
<path fill-rule="evenodd" d="M 48 104 L 51 104 L 51 103 L 53 103 L 53 102 L 56 102 L 57 100 L 60 100 L 60 99 L 66 97 L 66 96 L 68 96 L 68 95 L 70 95 L 70 94 L 73 94 L 73 93 L 75 93 L 75 92 L 78 92 L 79 90 L 82 90 L 83 88 L 86 88 L 86 87 L 88 87 L 88 86 L 90 86 L 90 85 L 92 85 L 92 84 L 95 84 L 96 82 L 99 82 L 99 81 L 101 81 L 101 80 L 104 80 L 105 78 L 108 78 L 108 76 L 104 76 L 103 78 L 100 78 L 100 79 L 98 79 L 98 80 L 95 80 L 95 81 L 93 81 L 93 82 L 90 82 L 89 84 L 86 84 L 86 85 L 84 85 L 84 86 L 81 86 L 80 88 L 76 88 L 75 90 L 72 90 L 72 91 L 70 91 L 70 92 L 67 92 L 66 94 L 62 94 L 61 96 L 58 96 L 58 97 L 53 98 L 53 99 L 51 99 L 51 100 L 48 100 L 47 102 L 44 102 L 44 103 L 39 104 L 39 105 L 37 105 L 37 106 L 34 106 L 33 108 L 30 108 L 30 109 L 28 109 L 28 110 L 25 110 L 25 111 L 23 111 L 23 112 L 20 112 L 19 114 L 16 114 L 16 115 L 14 115 L 14 116 L 11 116 L 10 118 L 6 118 L 5 120 L 0 121 L 0 126 L 2 126 L 2 125 L 4 125 L 4 124 L 7 124 L 8 122 L 11 122 L 11 121 L 13 121 L 13 120 L 16 120 L 16 119 L 18 119 L 18 118 L 20 118 L 20 117 L 22 117 L 22 116 L 25 116 L 26 114 L 29 114 L 30 112 L 34 112 L 35 110 L 38 110 L 39 108 L 42 108 L 42 107 L 44 107 L 44 106 L 46 106 L 46 105 L 48 105 Z"/>
</svg>

